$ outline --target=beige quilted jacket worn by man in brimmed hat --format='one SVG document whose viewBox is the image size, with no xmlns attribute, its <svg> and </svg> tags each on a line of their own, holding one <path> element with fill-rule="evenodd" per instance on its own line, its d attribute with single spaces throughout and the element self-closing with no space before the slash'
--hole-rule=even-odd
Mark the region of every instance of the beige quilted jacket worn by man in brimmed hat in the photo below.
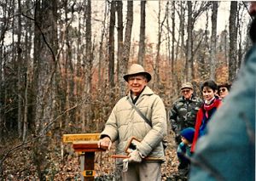
<svg viewBox="0 0 256 181">
<path fill-rule="evenodd" d="M 127 140 L 135 136 L 141 140 L 141 143 L 137 145 L 137 150 L 143 156 L 165 161 L 161 143 L 167 132 L 166 109 L 163 101 L 148 87 L 144 88 L 143 93 L 137 99 L 137 108 L 152 122 L 153 127 L 150 127 L 132 108 L 128 99 L 131 99 L 130 93 L 119 99 L 119 102 L 113 107 L 105 129 L 101 133 L 101 138 L 108 135 L 112 142 L 117 141 L 116 154 L 125 155 Z"/>
</svg>

